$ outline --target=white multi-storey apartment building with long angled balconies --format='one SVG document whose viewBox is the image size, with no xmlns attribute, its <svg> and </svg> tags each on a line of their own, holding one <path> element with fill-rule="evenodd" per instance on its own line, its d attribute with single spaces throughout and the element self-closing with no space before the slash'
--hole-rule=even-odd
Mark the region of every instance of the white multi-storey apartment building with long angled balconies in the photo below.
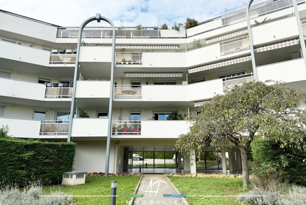
<svg viewBox="0 0 306 205">
<path fill-rule="evenodd" d="M 80 49 L 73 50 L 78 27 L 0 10 L 0 126 L 8 125 L 14 137 L 67 141 L 72 120 L 74 169 L 105 172 L 110 120 L 109 173 L 132 172 L 132 152 L 175 152 L 177 137 L 188 132 L 188 121 L 166 120 L 167 115 L 196 113 L 225 86 L 275 79 L 306 90 L 306 2 L 296 1 L 298 14 L 295 0 L 270 0 L 254 2 L 250 18 L 241 8 L 187 30 L 116 28 L 113 84 L 111 28 L 85 27 Z M 266 17 L 271 21 L 254 25 Z M 194 39 L 203 47 L 193 49 Z M 74 82 L 77 52 L 80 66 Z M 187 84 L 187 78 L 197 83 Z M 80 111 L 87 111 L 89 118 L 80 118 Z M 239 150 L 226 151 L 230 171 L 241 170 Z M 222 157 L 224 153 L 222 149 Z M 176 155 L 178 163 L 172 168 L 182 168 L 182 157 L 183 171 L 196 171 L 188 156 Z M 157 170 L 154 164 L 151 169 Z M 225 164 L 217 167 L 222 168 L 226 171 Z"/>
</svg>

